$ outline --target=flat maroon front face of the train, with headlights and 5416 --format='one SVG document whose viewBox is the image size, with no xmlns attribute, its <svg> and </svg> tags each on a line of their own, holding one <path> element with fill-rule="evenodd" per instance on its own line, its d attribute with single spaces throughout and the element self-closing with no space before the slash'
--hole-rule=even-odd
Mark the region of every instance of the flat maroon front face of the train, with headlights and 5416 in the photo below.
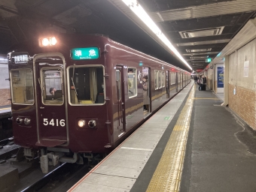
<svg viewBox="0 0 256 192">
<path fill-rule="evenodd" d="M 14 141 L 26 158 L 39 155 L 43 172 L 107 151 L 106 58 L 99 39 L 42 37 L 8 54 Z"/>
</svg>

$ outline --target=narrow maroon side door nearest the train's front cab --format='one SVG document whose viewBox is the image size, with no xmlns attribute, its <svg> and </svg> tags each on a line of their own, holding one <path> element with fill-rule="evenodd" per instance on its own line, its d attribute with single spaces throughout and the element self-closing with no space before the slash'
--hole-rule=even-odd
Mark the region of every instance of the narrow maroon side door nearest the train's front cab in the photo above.
<svg viewBox="0 0 256 192">
<path fill-rule="evenodd" d="M 118 130 L 126 131 L 125 113 L 125 92 L 124 92 L 124 70 L 123 65 L 116 66 L 116 87 L 117 87 L 117 118 Z"/>
</svg>

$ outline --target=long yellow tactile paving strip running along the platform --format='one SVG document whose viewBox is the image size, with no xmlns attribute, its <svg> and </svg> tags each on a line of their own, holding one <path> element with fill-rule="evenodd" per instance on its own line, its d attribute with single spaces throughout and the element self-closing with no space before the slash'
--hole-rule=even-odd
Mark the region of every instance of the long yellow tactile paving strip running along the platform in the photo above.
<svg viewBox="0 0 256 192">
<path fill-rule="evenodd" d="M 191 90 L 186 104 L 181 110 L 178 121 L 172 130 L 163 155 L 157 165 L 147 191 L 179 191 L 181 172 L 183 169 L 185 149 L 187 145 L 190 118 L 194 103 L 194 89 Z"/>
</svg>

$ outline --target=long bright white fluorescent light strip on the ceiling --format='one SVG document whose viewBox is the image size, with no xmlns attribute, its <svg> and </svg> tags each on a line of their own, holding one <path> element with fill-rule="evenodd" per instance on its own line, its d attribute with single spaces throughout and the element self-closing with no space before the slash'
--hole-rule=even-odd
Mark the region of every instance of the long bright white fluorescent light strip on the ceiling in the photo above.
<svg viewBox="0 0 256 192">
<path fill-rule="evenodd" d="M 133 13 L 136 13 L 136 15 L 141 19 L 148 28 L 151 29 L 151 31 L 154 32 L 154 34 L 157 35 L 157 37 L 160 38 L 160 40 L 163 41 L 163 43 L 166 44 L 166 46 L 171 49 L 172 52 L 175 53 L 175 55 L 183 62 L 185 65 L 187 65 L 190 70 L 192 68 L 190 65 L 187 64 L 187 62 L 184 60 L 184 58 L 181 56 L 181 54 L 178 52 L 177 49 L 172 45 L 171 42 L 167 39 L 167 37 L 163 34 L 163 32 L 160 30 L 160 28 L 157 27 L 157 25 L 154 23 L 153 20 L 151 20 L 151 17 L 148 16 L 148 13 L 143 9 L 141 5 L 139 5 L 139 2 L 136 0 L 122 0 L 125 5 L 130 7 L 131 10 L 133 10 Z"/>
</svg>

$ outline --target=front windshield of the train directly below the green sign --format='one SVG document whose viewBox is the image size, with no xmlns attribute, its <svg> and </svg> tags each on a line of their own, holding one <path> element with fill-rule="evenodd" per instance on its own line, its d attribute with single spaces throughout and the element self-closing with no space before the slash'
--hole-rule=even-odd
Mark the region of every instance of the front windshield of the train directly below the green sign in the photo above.
<svg viewBox="0 0 256 192">
<path fill-rule="evenodd" d="M 105 104 L 102 65 L 69 68 L 69 102 L 77 105 Z"/>
</svg>

